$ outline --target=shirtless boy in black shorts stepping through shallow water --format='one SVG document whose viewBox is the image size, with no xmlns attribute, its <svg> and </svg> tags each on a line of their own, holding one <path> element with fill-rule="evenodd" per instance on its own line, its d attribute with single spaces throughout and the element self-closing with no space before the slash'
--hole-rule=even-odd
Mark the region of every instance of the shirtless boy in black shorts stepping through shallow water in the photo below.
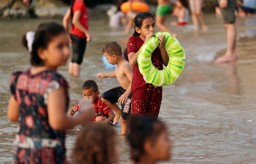
<svg viewBox="0 0 256 164">
<path fill-rule="evenodd" d="M 107 62 L 112 65 L 116 65 L 116 70 L 109 73 L 98 73 L 97 78 L 116 77 L 117 81 L 121 85 L 120 87 L 112 88 L 101 95 L 101 99 L 111 109 L 116 112 L 113 124 L 121 117 L 121 134 L 125 135 L 129 131 L 128 118 L 131 112 L 131 81 L 132 81 L 132 67 L 129 62 L 126 61 L 122 55 L 121 46 L 116 42 L 107 43 L 103 50 L 103 55 L 106 57 Z M 121 103 L 122 110 L 116 104 Z"/>
</svg>

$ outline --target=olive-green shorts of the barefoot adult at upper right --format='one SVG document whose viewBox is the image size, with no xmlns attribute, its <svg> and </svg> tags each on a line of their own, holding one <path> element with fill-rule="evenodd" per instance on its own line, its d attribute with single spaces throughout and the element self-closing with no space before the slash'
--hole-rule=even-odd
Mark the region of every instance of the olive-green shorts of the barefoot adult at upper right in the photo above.
<svg viewBox="0 0 256 164">
<path fill-rule="evenodd" d="M 220 0 L 218 0 L 220 3 Z M 236 16 L 235 16 L 235 9 L 236 9 L 236 0 L 228 0 L 228 7 L 222 9 L 220 7 L 220 11 L 223 16 L 224 23 L 235 23 Z"/>
</svg>

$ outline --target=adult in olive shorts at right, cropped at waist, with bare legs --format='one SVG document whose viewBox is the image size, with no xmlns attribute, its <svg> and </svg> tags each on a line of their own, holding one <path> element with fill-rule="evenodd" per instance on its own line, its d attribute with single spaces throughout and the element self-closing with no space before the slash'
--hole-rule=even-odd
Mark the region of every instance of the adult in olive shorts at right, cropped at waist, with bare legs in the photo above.
<svg viewBox="0 0 256 164">
<path fill-rule="evenodd" d="M 235 4 L 236 0 L 219 0 L 220 11 L 223 15 L 227 29 L 228 47 L 226 53 L 217 58 L 215 63 L 226 63 L 237 59 L 236 56 L 236 26 L 235 26 Z"/>
</svg>

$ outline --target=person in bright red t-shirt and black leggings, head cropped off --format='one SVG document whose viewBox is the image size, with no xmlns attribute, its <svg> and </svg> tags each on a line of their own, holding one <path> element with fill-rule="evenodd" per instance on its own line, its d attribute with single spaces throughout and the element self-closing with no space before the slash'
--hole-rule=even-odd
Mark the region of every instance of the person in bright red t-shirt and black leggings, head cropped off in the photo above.
<svg viewBox="0 0 256 164">
<path fill-rule="evenodd" d="M 71 6 L 63 18 L 63 26 L 68 34 L 68 20 L 71 18 L 71 27 L 69 29 L 72 42 L 73 55 L 69 63 L 68 72 L 75 76 L 80 76 L 80 65 L 83 61 L 86 42 L 91 41 L 91 35 L 88 32 L 89 16 L 84 0 L 71 0 Z"/>
</svg>

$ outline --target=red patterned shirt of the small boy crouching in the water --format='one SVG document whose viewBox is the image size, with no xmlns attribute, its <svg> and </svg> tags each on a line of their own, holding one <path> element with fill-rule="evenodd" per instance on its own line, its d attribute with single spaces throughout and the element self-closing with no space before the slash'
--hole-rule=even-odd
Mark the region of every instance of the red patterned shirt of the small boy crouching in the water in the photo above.
<svg viewBox="0 0 256 164">
<path fill-rule="evenodd" d="M 79 104 L 76 104 L 75 108 L 76 108 L 76 111 L 80 111 Z M 92 120 L 95 121 L 95 118 L 97 116 L 105 116 L 108 118 L 108 112 L 111 110 L 111 108 L 101 100 L 100 96 L 98 96 L 94 101 L 93 110 L 95 111 L 95 116 L 94 118 L 92 118 Z"/>
</svg>

